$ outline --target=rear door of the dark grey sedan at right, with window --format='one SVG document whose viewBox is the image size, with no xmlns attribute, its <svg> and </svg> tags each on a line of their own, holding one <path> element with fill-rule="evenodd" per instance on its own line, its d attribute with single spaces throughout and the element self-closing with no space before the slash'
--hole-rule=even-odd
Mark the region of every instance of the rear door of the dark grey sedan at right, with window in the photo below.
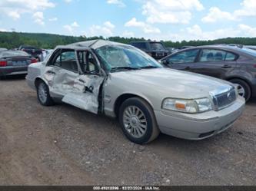
<svg viewBox="0 0 256 191">
<path fill-rule="evenodd" d="M 194 64 L 193 71 L 224 79 L 236 67 L 238 55 L 220 49 L 204 48 Z"/>
</svg>

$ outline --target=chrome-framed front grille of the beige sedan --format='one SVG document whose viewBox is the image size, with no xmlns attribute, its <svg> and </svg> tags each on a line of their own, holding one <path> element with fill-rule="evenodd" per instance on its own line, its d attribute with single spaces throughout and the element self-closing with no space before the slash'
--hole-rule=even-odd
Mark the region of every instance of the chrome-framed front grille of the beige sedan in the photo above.
<svg viewBox="0 0 256 191">
<path fill-rule="evenodd" d="M 214 95 L 214 105 L 217 107 L 217 110 L 221 110 L 222 108 L 232 104 L 236 98 L 237 95 L 234 88 L 232 88 L 230 91 Z"/>
</svg>

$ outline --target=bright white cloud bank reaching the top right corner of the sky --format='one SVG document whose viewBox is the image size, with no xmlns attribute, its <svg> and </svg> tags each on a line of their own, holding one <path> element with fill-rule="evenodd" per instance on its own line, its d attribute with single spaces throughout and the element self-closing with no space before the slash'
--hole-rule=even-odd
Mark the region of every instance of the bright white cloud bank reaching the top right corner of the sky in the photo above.
<svg viewBox="0 0 256 191">
<path fill-rule="evenodd" d="M 256 16 L 256 1 L 244 0 L 241 2 L 241 8 L 234 10 L 234 12 L 223 12 L 220 8 L 212 7 L 201 20 L 203 22 L 215 22 L 215 21 L 239 21 L 243 17 Z"/>
</svg>

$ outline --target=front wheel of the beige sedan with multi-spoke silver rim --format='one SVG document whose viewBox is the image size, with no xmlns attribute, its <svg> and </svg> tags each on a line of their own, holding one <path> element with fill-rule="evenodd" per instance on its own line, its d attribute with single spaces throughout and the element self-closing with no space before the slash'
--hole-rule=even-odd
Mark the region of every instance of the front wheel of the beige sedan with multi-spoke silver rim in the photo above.
<svg viewBox="0 0 256 191">
<path fill-rule="evenodd" d="M 150 105 L 139 97 L 125 100 L 119 108 L 119 123 L 131 142 L 144 144 L 155 140 L 160 131 Z"/>
</svg>

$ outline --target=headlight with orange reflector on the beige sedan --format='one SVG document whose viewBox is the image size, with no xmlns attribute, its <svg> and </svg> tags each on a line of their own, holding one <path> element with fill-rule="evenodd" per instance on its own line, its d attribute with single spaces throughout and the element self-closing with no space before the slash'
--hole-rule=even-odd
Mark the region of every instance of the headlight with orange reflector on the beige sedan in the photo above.
<svg viewBox="0 0 256 191">
<path fill-rule="evenodd" d="M 176 110 L 189 114 L 196 114 L 212 110 L 211 100 L 208 98 L 197 100 L 179 100 L 167 98 L 163 101 L 162 108 L 165 110 Z"/>
</svg>

